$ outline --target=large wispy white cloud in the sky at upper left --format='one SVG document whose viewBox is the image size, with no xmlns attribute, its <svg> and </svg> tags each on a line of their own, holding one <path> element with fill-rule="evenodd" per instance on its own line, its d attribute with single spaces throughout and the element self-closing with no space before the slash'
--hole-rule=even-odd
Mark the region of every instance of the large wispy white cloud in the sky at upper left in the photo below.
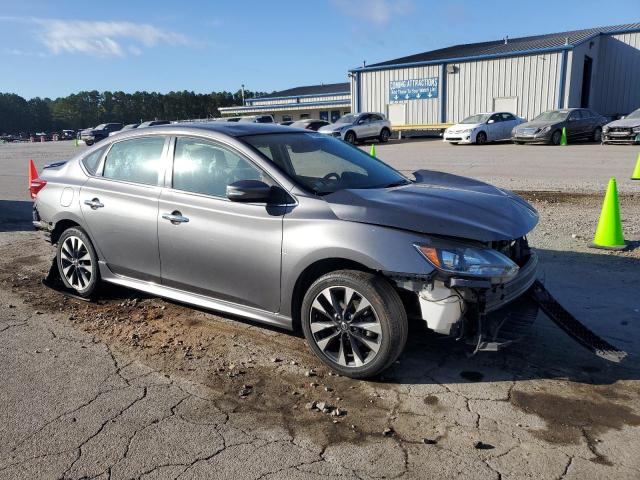
<svg viewBox="0 0 640 480">
<path fill-rule="evenodd" d="M 190 43 L 180 33 L 146 23 L 12 17 L 0 17 L 0 20 L 36 25 L 37 38 L 53 54 L 124 57 L 127 54 L 140 55 L 143 47 Z"/>
</svg>

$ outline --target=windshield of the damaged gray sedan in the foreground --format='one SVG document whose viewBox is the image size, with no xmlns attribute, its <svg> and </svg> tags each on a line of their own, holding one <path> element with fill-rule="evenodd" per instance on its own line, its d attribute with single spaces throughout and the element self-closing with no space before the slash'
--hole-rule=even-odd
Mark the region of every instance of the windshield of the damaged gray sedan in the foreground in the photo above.
<svg viewBox="0 0 640 480">
<path fill-rule="evenodd" d="M 359 148 L 315 132 L 251 135 L 242 140 L 317 195 L 410 183 L 401 173 Z"/>
</svg>

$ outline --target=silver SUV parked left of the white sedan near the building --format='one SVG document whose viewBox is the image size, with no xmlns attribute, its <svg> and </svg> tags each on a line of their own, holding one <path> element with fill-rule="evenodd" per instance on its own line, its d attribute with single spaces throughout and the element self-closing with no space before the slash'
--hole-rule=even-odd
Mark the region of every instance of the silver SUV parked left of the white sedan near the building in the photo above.
<svg viewBox="0 0 640 480">
<path fill-rule="evenodd" d="M 318 132 L 340 138 L 345 142 L 378 140 L 385 143 L 391 136 L 391 123 L 381 113 L 348 113 L 336 123 L 321 127 Z"/>
</svg>

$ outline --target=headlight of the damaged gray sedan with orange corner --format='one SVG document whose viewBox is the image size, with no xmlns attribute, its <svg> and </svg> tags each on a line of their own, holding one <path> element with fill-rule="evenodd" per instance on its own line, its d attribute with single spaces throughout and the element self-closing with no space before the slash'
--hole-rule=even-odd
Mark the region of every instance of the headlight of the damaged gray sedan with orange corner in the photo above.
<svg viewBox="0 0 640 480">
<path fill-rule="evenodd" d="M 504 282 L 515 277 L 520 269 L 510 258 L 491 248 L 453 243 L 414 246 L 429 263 L 448 274 L 484 277 Z"/>
</svg>

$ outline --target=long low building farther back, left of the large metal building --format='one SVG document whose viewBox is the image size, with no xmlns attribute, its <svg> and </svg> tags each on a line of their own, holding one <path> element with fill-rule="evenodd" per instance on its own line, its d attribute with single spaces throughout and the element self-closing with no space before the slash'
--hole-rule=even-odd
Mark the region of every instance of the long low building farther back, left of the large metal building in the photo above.
<svg viewBox="0 0 640 480">
<path fill-rule="evenodd" d="M 349 83 L 290 88 L 248 98 L 241 107 L 219 109 L 223 116 L 271 114 L 276 122 L 317 118 L 335 122 L 351 111 Z"/>
</svg>

